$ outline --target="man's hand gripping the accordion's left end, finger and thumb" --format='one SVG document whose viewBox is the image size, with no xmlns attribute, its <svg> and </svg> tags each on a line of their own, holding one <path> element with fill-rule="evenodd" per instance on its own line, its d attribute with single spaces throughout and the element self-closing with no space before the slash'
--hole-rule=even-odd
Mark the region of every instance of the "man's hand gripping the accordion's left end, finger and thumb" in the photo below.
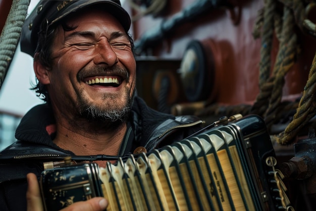
<svg viewBox="0 0 316 211">
<path fill-rule="evenodd" d="M 37 178 L 34 174 L 27 175 L 28 189 L 26 192 L 27 211 L 43 211 Z M 108 201 L 102 197 L 95 197 L 87 201 L 79 201 L 62 209 L 62 211 L 102 211 L 108 206 Z"/>
</svg>

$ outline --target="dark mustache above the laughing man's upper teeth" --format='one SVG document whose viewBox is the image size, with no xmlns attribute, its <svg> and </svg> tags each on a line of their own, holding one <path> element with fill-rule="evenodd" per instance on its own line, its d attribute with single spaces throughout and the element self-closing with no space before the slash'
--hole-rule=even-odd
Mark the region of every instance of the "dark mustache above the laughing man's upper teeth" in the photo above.
<svg viewBox="0 0 316 211">
<path fill-rule="evenodd" d="M 106 76 L 106 75 L 119 75 L 123 80 L 128 81 L 130 74 L 126 68 L 121 68 L 117 65 L 112 67 L 93 66 L 89 68 L 82 68 L 77 74 L 78 82 L 83 81 L 86 77 L 92 76 Z"/>
</svg>

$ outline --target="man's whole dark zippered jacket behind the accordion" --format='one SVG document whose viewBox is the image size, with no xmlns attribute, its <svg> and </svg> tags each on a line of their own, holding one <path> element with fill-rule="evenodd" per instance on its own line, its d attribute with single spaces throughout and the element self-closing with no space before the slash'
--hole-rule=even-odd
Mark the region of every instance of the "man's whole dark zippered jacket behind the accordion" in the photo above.
<svg viewBox="0 0 316 211">
<path fill-rule="evenodd" d="M 17 142 L 0 152 L 0 210 L 26 210 L 26 175 L 37 177 L 43 171 L 44 161 L 61 160 L 76 155 L 59 148 L 52 139 L 55 119 L 48 105 L 32 108 L 21 120 L 17 130 Z M 202 121 L 194 116 L 175 117 L 149 108 L 135 97 L 130 128 L 133 139 L 122 154 L 128 154 L 139 146 L 147 152 L 180 141 L 201 128 Z M 89 157 L 89 155 L 87 155 Z M 77 159 L 79 159 L 77 157 Z"/>
</svg>

